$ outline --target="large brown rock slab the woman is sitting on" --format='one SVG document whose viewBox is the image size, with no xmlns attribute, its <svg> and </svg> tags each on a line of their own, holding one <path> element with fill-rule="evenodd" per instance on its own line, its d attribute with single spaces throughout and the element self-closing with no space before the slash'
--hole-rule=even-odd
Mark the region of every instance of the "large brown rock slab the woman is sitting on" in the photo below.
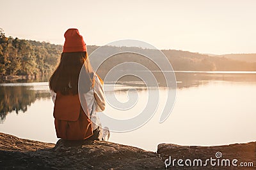
<svg viewBox="0 0 256 170">
<path fill-rule="evenodd" d="M 0 133 L 1 169 L 164 169 L 157 153 L 106 141 L 56 145 Z"/>
</svg>

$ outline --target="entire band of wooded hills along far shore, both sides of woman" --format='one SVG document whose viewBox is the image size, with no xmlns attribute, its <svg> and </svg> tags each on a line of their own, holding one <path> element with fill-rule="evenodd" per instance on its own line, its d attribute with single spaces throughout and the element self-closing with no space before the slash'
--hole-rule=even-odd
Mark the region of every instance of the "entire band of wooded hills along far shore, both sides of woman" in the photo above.
<svg viewBox="0 0 256 170">
<path fill-rule="evenodd" d="M 88 46 L 88 53 L 90 54 L 98 47 Z M 154 50 L 138 47 L 105 46 L 104 48 L 108 48 L 107 50 L 115 48 L 116 51 L 121 51 L 121 48 L 136 48 L 138 52 L 145 50 L 147 53 L 154 54 Z M 61 45 L 12 37 L 7 38 L 3 29 L 0 29 L 0 78 L 52 73 L 60 60 L 61 51 Z M 251 62 L 246 62 L 230 59 L 230 55 L 226 58 L 210 57 L 209 55 L 180 50 L 162 50 L 162 52 L 170 60 L 173 69 L 176 71 L 256 71 L 254 59 L 250 59 Z M 103 55 L 104 53 L 100 53 L 95 60 L 102 60 Z M 250 57 L 252 58 L 252 55 Z M 102 71 L 106 72 L 116 64 L 126 61 L 140 62 L 148 69 L 157 69 L 153 62 L 148 62 L 147 58 L 132 53 L 123 53 L 111 58 L 104 62 L 100 68 Z"/>
</svg>

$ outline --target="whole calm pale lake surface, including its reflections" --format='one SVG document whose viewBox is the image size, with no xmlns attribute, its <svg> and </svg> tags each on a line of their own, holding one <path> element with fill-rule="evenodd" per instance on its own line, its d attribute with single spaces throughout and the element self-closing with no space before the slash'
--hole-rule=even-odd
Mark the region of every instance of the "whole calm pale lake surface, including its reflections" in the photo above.
<svg viewBox="0 0 256 170">
<path fill-rule="evenodd" d="M 159 143 L 178 145 L 223 145 L 256 141 L 256 73 L 182 72 L 177 76 L 177 97 L 168 119 L 159 124 L 166 88 L 160 87 L 160 103 L 152 119 L 139 129 L 111 133 L 109 141 L 156 151 Z M 105 114 L 131 118 L 147 104 L 147 89 L 140 83 L 116 85 L 115 96 L 127 101 L 127 89 L 138 89 L 138 103 L 129 111 L 118 111 L 109 104 Z M 126 85 L 125 85 L 126 84 Z M 105 84 L 105 94 L 114 92 Z M 155 89 L 157 93 L 157 89 Z M 133 94 L 134 93 L 134 94 Z M 135 92 L 131 92 L 131 96 Z M 162 102 L 161 102 L 162 101 Z M 56 143 L 53 103 L 47 82 L 2 83 L 0 85 L 0 131 Z M 108 126 L 108 124 L 103 125 Z"/>
</svg>

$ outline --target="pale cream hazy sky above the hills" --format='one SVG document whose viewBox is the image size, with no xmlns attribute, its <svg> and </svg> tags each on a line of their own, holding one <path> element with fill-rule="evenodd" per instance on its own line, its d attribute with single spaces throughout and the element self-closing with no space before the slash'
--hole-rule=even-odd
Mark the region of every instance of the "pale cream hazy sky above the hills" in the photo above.
<svg viewBox="0 0 256 170">
<path fill-rule="evenodd" d="M 76 27 L 87 45 L 138 39 L 160 49 L 256 53 L 255 0 L 1 0 L 6 36 L 63 44 Z"/>
</svg>

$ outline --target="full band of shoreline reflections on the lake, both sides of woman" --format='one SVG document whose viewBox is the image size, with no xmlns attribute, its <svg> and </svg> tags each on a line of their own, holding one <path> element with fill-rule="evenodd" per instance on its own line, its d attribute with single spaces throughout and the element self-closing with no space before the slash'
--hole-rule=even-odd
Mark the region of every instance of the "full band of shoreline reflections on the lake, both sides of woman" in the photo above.
<svg viewBox="0 0 256 170">
<path fill-rule="evenodd" d="M 163 88 L 166 85 L 163 74 L 154 72 L 157 78 L 159 87 Z M 207 73 L 207 72 L 176 72 L 178 89 L 187 89 L 189 87 L 200 87 L 206 85 L 212 81 L 236 81 L 255 83 L 256 73 Z M 50 99 L 49 87 L 47 82 L 43 83 L 31 83 L 37 81 L 48 81 L 49 76 L 43 76 L 35 80 L 13 80 L 13 83 L 1 83 L 0 84 L 0 123 L 3 123 L 6 119 L 6 115 L 14 111 L 16 114 L 20 112 L 25 113 L 28 110 L 28 106 L 35 103 L 38 99 Z M 24 83 L 26 82 L 26 83 Z M 105 82 L 106 86 L 104 90 L 106 93 L 112 93 L 109 91 L 108 84 L 113 82 Z M 118 80 L 115 92 L 126 92 L 129 88 L 142 91 L 147 89 L 145 83 L 139 78 L 134 76 L 124 76 Z M 156 87 L 153 87 L 156 88 Z"/>
</svg>

